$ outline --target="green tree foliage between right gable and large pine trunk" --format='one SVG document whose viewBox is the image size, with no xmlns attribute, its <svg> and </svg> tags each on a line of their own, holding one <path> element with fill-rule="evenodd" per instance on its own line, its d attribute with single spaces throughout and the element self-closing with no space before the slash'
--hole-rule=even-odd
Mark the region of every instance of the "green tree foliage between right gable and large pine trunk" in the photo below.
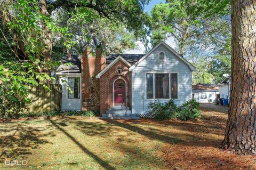
<svg viewBox="0 0 256 170">
<path fill-rule="evenodd" d="M 220 83 L 230 73 L 230 1 L 166 1 L 151 14 L 151 43 L 173 38 L 175 50 L 197 68 L 193 83 Z"/>
</svg>

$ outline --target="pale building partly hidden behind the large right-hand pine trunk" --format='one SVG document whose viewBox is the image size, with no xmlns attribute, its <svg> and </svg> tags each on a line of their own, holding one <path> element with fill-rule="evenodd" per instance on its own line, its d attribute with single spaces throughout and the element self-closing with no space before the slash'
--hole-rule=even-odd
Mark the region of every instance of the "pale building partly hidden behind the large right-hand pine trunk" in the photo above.
<svg viewBox="0 0 256 170">
<path fill-rule="evenodd" d="M 226 77 L 220 84 L 215 85 L 219 87 L 220 98 L 229 99 L 230 101 L 230 85 L 231 77 Z"/>
</svg>

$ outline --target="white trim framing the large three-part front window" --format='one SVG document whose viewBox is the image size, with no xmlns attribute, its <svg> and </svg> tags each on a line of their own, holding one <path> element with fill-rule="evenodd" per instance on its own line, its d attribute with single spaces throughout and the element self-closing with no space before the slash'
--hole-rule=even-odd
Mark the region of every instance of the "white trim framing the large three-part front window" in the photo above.
<svg viewBox="0 0 256 170">
<path fill-rule="evenodd" d="M 153 74 L 153 97 L 154 99 L 147 99 L 147 74 Z M 169 99 L 155 99 L 155 74 L 169 74 Z M 177 99 L 173 99 L 173 100 L 180 100 L 180 80 L 179 80 L 179 72 L 178 71 L 147 71 L 145 72 L 144 75 L 144 84 L 145 84 L 145 88 L 144 88 L 144 100 L 171 100 L 171 74 L 177 74 Z"/>
</svg>

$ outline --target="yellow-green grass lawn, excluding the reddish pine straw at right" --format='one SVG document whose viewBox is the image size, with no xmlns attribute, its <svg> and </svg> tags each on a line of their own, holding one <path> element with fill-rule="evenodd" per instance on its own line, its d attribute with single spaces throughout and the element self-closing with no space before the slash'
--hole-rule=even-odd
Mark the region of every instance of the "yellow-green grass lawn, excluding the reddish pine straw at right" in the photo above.
<svg viewBox="0 0 256 170">
<path fill-rule="evenodd" d="M 158 133 L 151 126 L 81 117 L 1 123 L 0 169 L 10 169 L 4 160 L 11 159 L 28 161 L 15 169 L 164 168 L 163 141 L 143 134 L 148 130 Z"/>
</svg>

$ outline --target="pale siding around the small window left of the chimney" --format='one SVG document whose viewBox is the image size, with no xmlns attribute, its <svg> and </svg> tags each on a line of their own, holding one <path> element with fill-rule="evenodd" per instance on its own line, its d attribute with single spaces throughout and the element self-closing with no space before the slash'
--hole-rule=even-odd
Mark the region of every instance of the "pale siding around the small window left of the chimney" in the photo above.
<svg viewBox="0 0 256 170">
<path fill-rule="evenodd" d="M 75 75 L 75 76 L 77 76 L 77 75 Z M 82 109 L 82 100 L 81 99 L 68 99 L 67 98 L 67 92 L 68 92 L 67 91 L 67 83 L 63 82 L 62 80 L 66 80 L 66 82 L 68 82 L 68 78 L 67 77 L 60 78 L 60 84 L 62 85 L 61 110 L 81 110 Z M 81 82 L 81 78 L 80 78 L 80 82 Z M 81 92 L 81 87 L 80 87 L 80 92 Z"/>
</svg>

